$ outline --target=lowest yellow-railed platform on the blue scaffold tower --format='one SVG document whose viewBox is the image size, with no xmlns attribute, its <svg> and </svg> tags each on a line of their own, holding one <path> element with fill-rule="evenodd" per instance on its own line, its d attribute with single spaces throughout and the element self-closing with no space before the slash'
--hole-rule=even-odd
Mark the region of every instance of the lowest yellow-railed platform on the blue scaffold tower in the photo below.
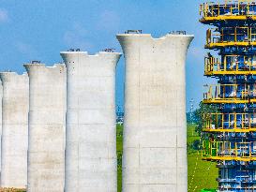
<svg viewBox="0 0 256 192">
<path fill-rule="evenodd" d="M 207 160 L 256 160 L 256 144 L 203 140 L 202 155 Z"/>
</svg>

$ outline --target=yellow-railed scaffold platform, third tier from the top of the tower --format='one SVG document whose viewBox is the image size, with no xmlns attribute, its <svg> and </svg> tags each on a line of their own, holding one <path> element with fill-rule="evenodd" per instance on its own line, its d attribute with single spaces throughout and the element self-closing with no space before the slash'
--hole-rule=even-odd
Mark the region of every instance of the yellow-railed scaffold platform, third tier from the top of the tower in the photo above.
<svg viewBox="0 0 256 192">
<path fill-rule="evenodd" d="M 213 56 L 204 58 L 204 75 L 256 74 L 256 56 L 226 55 L 222 61 Z"/>
</svg>

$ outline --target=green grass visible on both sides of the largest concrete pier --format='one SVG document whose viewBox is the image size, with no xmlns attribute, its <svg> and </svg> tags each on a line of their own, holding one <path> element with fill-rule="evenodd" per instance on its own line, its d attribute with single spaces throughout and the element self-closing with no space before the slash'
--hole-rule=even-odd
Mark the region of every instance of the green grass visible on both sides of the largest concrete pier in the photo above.
<svg viewBox="0 0 256 192">
<path fill-rule="evenodd" d="M 188 146 L 194 140 L 200 140 L 195 132 L 195 125 L 188 124 Z M 118 192 L 122 191 L 122 153 L 123 153 L 123 126 L 116 126 L 116 151 L 118 158 L 117 181 Z M 188 192 L 199 192 L 203 188 L 217 188 L 218 169 L 216 164 L 201 160 L 199 151 L 188 147 Z"/>
</svg>

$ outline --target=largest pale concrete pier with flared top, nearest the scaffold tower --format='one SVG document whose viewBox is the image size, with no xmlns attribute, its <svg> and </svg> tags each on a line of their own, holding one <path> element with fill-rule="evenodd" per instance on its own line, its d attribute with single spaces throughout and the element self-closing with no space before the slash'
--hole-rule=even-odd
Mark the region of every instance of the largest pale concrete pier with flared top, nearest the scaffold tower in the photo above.
<svg viewBox="0 0 256 192">
<path fill-rule="evenodd" d="M 193 36 L 117 38 L 126 58 L 123 192 L 187 192 L 185 62 Z"/>
</svg>

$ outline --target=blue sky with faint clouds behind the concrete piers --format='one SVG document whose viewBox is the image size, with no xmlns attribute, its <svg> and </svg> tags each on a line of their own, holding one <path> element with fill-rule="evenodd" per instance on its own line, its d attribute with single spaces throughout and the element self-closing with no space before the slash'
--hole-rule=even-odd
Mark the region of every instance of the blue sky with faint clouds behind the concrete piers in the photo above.
<svg viewBox="0 0 256 192">
<path fill-rule="evenodd" d="M 69 48 L 121 52 L 115 34 L 127 29 L 142 29 L 153 37 L 186 30 L 195 35 L 188 51 L 187 103 L 194 98 L 197 105 L 206 83 L 205 26 L 198 22 L 199 4 L 191 0 L 0 0 L 0 70 L 22 73 L 23 64 L 31 60 L 53 65 L 62 61 L 59 52 Z M 122 58 L 116 71 L 119 106 L 124 97 L 124 65 Z"/>
</svg>

